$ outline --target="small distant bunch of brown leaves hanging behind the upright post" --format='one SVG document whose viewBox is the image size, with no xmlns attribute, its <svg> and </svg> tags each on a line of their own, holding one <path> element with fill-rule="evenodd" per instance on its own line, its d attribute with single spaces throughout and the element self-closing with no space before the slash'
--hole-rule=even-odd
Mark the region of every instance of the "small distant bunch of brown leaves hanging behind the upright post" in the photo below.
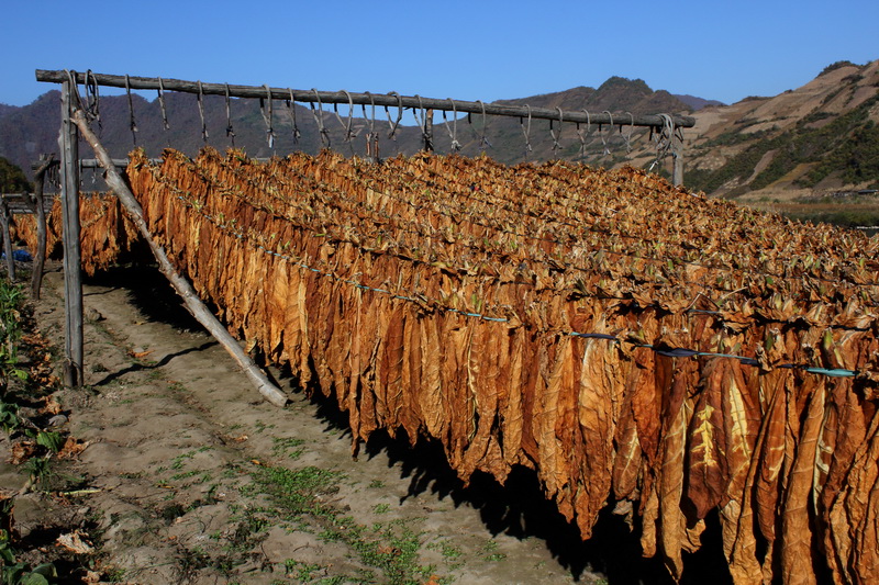
<svg viewBox="0 0 879 585">
<path fill-rule="evenodd" d="M 16 237 L 24 240 L 31 250 L 36 250 L 36 215 L 13 215 L 13 221 Z M 114 195 L 107 193 L 81 194 L 79 223 L 82 268 L 89 275 L 127 259 L 140 239 L 137 228 L 123 212 L 122 204 Z M 46 214 L 47 259 L 59 260 L 64 257 L 63 226 L 62 201 L 55 199 L 52 211 Z"/>
</svg>

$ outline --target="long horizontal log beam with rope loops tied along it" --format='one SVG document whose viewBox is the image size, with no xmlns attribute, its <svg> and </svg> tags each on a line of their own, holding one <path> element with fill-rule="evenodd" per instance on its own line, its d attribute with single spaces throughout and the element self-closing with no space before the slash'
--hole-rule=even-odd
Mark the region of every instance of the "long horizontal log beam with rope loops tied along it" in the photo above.
<svg viewBox="0 0 879 585">
<path fill-rule="evenodd" d="M 347 91 L 318 91 L 269 88 L 267 86 L 237 86 L 231 83 L 202 83 L 200 81 L 183 81 L 180 79 L 163 79 L 158 77 L 131 77 L 105 74 L 82 74 L 66 70 L 36 70 L 36 80 L 52 83 L 63 83 L 74 76 L 78 85 L 89 82 L 98 86 L 113 88 L 129 88 L 133 90 L 168 90 L 186 93 L 201 93 L 202 95 L 229 95 L 231 98 L 271 98 L 272 100 L 290 100 L 307 103 L 334 103 L 352 105 L 379 105 L 400 109 L 441 110 L 446 112 L 464 112 L 468 114 L 491 114 L 521 119 L 554 120 L 578 124 L 615 126 L 649 126 L 663 127 L 666 123 L 661 114 L 630 114 L 594 112 L 586 110 L 560 111 L 548 108 L 528 108 L 526 105 L 505 105 L 499 103 L 483 103 L 480 101 L 458 101 L 436 98 L 422 98 L 420 95 L 399 95 L 397 93 L 353 93 Z M 696 124 L 692 116 L 671 115 L 671 121 L 677 127 L 689 128 Z"/>
</svg>

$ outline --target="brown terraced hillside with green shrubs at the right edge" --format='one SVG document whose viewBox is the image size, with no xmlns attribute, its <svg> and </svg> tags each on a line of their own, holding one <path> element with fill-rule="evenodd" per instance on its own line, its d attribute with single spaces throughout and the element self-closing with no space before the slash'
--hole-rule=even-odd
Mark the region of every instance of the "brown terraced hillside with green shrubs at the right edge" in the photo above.
<svg viewBox="0 0 879 585">
<path fill-rule="evenodd" d="M 879 60 L 833 64 L 801 88 L 693 116 L 689 187 L 746 200 L 879 187 Z"/>
</svg>

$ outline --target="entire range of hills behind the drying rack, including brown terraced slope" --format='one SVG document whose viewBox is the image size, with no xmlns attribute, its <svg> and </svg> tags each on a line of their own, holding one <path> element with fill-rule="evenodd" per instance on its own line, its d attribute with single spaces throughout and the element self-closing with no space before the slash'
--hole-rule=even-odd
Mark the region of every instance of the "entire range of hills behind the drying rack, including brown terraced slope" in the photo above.
<svg viewBox="0 0 879 585">
<path fill-rule="evenodd" d="M 776 97 L 746 98 L 730 105 L 653 90 L 639 79 L 612 77 L 599 88 L 577 87 L 498 103 L 609 111 L 614 116 L 613 127 L 565 123 L 559 130 L 557 122 L 550 126 L 548 121 L 533 120 L 528 132 L 527 120 L 489 116 L 483 121 L 481 115 L 471 114 L 453 121 L 450 114 L 444 117 L 437 112 L 434 145 L 437 151 L 448 153 L 454 138 L 463 155 L 485 151 L 505 164 L 559 158 L 604 167 L 628 164 L 668 175 L 668 159 L 654 165 L 656 145 L 649 139 L 650 133 L 627 127 L 625 122 L 630 113 L 681 113 L 697 120 L 696 127 L 683 132 L 686 185 L 743 201 L 821 196 L 879 185 L 878 94 L 879 61 L 863 66 L 839 61 L 801 88 Z M 41 153 L 57 151 L 59 95 L 58 91 L 51 91 L 26 106 L 0 105 L 0 156 L 30 173 L 31 164 Z M 170 124 L 167 131 L 157 99 L 134 95 L 133 103 L 136 138 L 132 137 L 126 98 L 100 100 L 101 119 L 96 127 L 114 157 L 124 157 L 135 139 L 148 156 L 159 156 L 169 145 L 193 155 L 205 144 L 194 95 L 166 94 Z M 294 149 L 316 153 L 322 146 L 320 122 L 332 147 L 343 154 L 365 155 L 370 125 L 379 133 L 382 157 L 411 155 L 422 148 L 421 131 L 413 125 L 411 112 L 405 119 L 409 125 L 401 125 L 391 139 L 388 117 L 396 119 L 394 108 L 387 112 L 377 108 L 377 120 L 371 122 L 363 117 L 363 109 L 355 108 L 356 137 L 346 142 L 346 114 L 338 120 L 331 106 L 325 106 L 322 115 L 309 105 L 297 104 L 291 111 L 283 101 L 275 101 L 272 106 L 275 142 L 269 148 L 264 122 L 267 112 L 260 112 L 259 100 L 231 100 L 236 147 L 254 157 L 285 155 Z M 301 133 L 296 143 L 291 114 Z M 232 146 L 223 98 L 204 98 L 204 123 L 207 144 L 221 150 Z M 82 153 L 90 157 L 85 145 Z"/>
</svg>

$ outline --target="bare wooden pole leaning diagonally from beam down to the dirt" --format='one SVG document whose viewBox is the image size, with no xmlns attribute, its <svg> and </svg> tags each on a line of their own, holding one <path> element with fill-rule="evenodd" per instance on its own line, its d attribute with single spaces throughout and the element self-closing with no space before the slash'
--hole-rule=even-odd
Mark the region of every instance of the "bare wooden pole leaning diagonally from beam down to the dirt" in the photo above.
<svg viewBox="0 0 879 585">
<path fill-rule="evenodd" d="M 149 233 L 149 228 L 147 227 L 146 221 L 143 216 L 141 204 L 134 198 L 134 194 L 131 192 L 131 189 L 129 189 L 129 185 L 125 183 L 124 179 L 122 179 L 122 176 L 119 173 L 119 171 L 116 171 L 110 155 L 98 140 L 98 137 L 94 135 L 94 133 L 91 132 L 88 121 L 86 120 L 86 116 L 81 110 L 74 112 L 73 121 L 79 127 L 79 132 L 82 134 L 82 137 L 86 138 L 86 142 L 91 145 L 91 148 L 94 150 L 94 155 L 98 157 L 98 160 L 104 168 L 104 171 L 107 172 L 107 184 L 113 190 L 119 198 L 119 201 L 129 212 L 132 221 L 141 232 L 141 236 L 143 236 L 143 238 L 149 245 L 149 249 L 153 250 L 153 255 L 158 261 L 159 270 L 170 281 L 174 290 L 177 291 L 177 294 L 179 294 L 183 300 L 187 310 L 199 320 L 199 323 L 204 326 L 205 329 L 208 329 L 208 331 L 210 331 L 211 335 L 213 335 L 218 341 L 220 341 L 220 344 L 225 348 L 226 351 L 229 351 L 235 361 L 238 362 L 238 365 L 242 367 L 251 381 L 256 385 L 259 393 L 268 402 L 276 406 L 285 406 L 287 404 L 287 396 L 285 396 L 280 390 L 278 390 L 271 382 L 268 381 L 266 375 L 259 370 L 259 368 L 256 367 L 253 360 L 251 360 L 244 349 L 242 349 L 242 347 L 237 344 L 235 338 L 230 335 L 230 333 L 216 319 L 213 313 L 211 313 L 208 307 L 204 306 L 204 303 L 202 303 L 198 297 L 189 281 L 178 274 L 174 269 L 174 266 L 168 259 L 168 255 L 165 254 L 164 248 L 156 243 L 156 240 L 153 238 L 153 235 Z"/>
</svg>

